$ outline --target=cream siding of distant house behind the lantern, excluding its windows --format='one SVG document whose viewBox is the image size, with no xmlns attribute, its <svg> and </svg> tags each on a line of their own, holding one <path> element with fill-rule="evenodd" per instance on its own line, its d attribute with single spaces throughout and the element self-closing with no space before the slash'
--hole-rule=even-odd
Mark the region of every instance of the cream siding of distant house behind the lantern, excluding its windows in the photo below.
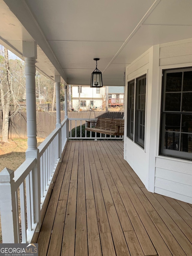
<svg viewBox="0 0 192 256">
<path fill-rule="evenodd" d="M 86 101 L 86 107 L 80 107 L 82 110 L 89 110 L 90 101 L 93 100 L 94 106 L 101 108 L 105 96 L 105 87 L 100 88 L 100 93 L 96 93 L 96 88 L 91 88 L 90 86 L 82 86 L 82 93 L 80 94 L 80 100 Z M 72 86 L 72 105 L 75 110 L 78 110 L 79 105 L 79 93 L 78 86 Z"/>
</svg>

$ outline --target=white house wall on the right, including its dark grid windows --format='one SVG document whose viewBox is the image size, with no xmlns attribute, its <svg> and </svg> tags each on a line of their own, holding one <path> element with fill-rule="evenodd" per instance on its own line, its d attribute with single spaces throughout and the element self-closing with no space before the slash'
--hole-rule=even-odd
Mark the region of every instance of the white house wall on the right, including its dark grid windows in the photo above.
<svg viewBox="0 0 192 256">
<path fill-rule="evenodd" d="M 192 38 L 126 68 L 124 157 L 146 188 L 192 203 Z"/>
</svg>

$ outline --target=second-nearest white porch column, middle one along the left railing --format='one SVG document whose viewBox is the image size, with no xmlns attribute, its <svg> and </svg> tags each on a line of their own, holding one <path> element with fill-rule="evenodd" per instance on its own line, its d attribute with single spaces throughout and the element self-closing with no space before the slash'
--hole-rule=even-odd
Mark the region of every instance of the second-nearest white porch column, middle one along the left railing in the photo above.
<svg viewBox="0 0 192 256">
<path fill-rule="evenodd" d="M 60 98 L 60 76 L 55 76 L 55 92 L 56 92 L 56 128 L 59 128 L 58 138 L 58 158 L 61 162 L 61 98 Z"/>
</svg>

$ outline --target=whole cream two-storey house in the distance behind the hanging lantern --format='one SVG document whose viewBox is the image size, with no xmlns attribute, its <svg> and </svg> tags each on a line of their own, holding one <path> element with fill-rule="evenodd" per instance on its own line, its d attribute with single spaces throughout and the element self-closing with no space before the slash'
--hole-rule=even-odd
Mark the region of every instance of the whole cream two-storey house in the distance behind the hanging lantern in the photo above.
<svg viewBox="0 0 192 256">
<path fill-rule="evenodd" d="M 72 86 L 72 106 L 74 110 L 78 110 L 79 106 L 79 88 L 80 88 L 80 109 L 89 110 L 90 108 L 101 109 L 104 106 L 105 86 L 99 88 L 91 88 L 86 86 Z"/>
</svg>

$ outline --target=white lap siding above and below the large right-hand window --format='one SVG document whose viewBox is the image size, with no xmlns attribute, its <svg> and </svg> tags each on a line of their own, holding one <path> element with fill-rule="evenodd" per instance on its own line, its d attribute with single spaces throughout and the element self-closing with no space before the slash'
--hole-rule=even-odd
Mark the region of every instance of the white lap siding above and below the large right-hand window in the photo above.
<svg viewBox="0 0 192 256">
<path fill-rule="evenodd" d="M 192 39 L 160 45 L 159 63 L 161 70 L 191 67 Z M 192 162 L 157 156 L 155 192 L 192 203 Z"/>
</svg>

